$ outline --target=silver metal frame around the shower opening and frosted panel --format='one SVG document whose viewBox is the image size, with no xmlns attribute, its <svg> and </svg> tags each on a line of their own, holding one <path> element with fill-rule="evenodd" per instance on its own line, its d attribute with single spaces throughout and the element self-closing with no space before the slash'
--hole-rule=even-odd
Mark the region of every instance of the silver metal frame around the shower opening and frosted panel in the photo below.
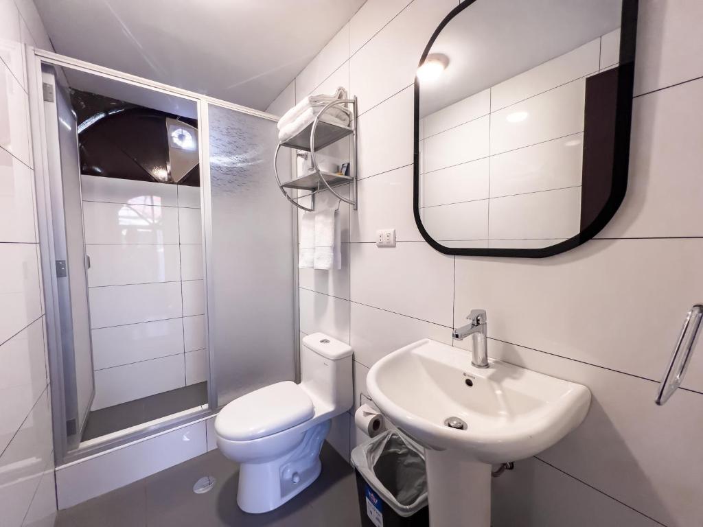
<svg viewBox="0 0 703 527">
<path fill-rule="evenodd" d="M 37 228 L 39 230 L 39 252 L 40 252 L 40 273 L 44 282 L 44 317 L 46 318 L 46 342 L 47 355 L 49 359 L 51 412 L 53 429 L 53 446 L 56 466 L 82 460 L 91 455 L 103 453 L 106 450 L 117 448 L 128 443 L 133 443 L 143 438 L 160 434 L 170 429 L 181 427 L 184 424 L 191 424 L 212 417 L 217 414 L 217 387 L 214 381 L 214 317 L 209 316 L 214 306 L 214 284 L 208 280 L 213 275 L 212 249 L 208 241 L 212 240 L 212 211 L 210 204 L 205 197 L 210 193 L 210 169 L 209 169 L 209 122 L 208 105 L 219 106 L 235 112 L 245 113 L 254 117 L 261 117 L 269 121 L 277 122 L 278 117 L 266 112 L 247 108 L 226 100 L 195 93 L 193 91 L 176 88 L 150 79 L 138 77 L 136 75 L 112 70 L 108 67 L 87 63 L 67 56 L 44 51 L 32 46 L 27 46 L 25 50 L 27 56 L 28 91 L 30 101 L 30 121 L 32 131 L 32 152 L 34 152 L 34 181 L 36 185 L 37 200 Z M 65 401 L 64 401 L 64 377 L 63 377 L 63 352 L 61 347 L 61 328 L 58 316 L 58 287 L 56 281 L 56 269 L 54 267 L 55 251 L 53 247 L 53 223 L 51 221 L 51 195 L 49 193 L 49 159 L 47 155 L 46 143 L 46 122 L 44 120 L 44 98 L 41 86 L 41 65 L 52 65 L 54 67 L 67 67 L 72 70 L 96 75 L 116 82 L 131 84 L 143 89 L 156 91 L 169 96 L 176 96 L 195 103 L 198 112 L 198 134 L 199 134 L 199 162 L 200 162 L 200 211 L 201 211 L 201 234 L 202 234 L 202 259 L 203 259 L 203 280 L 205 283 L 205 327 L 207 332 L 207 355 L 208 355 L 208 379 L 207 394 L 208 408 L 193 412 L 190 415 L 174 417 L 165 422 L 144 427 L 138 431 L 124 434 L 110 440 L 103 441 L 86 448 L 68 450 L 67 434 L 65 434 Z M 292 254 L 297 258 L 297 214 L 295 209 L 291 209 L 293 242 Z M 297 262 L 294 262 L 297 263 Z M 299 307 L 297 306 L 298 273 L 297 265 L 294 266 L 292 283 L 293 301 L 293 330 L 291 335 L 295 358 L 295 378 L 299 379 L 300 359 L 299 359 Z M 63 429 L 64 433 L 57 433 Z"/>
</svg>

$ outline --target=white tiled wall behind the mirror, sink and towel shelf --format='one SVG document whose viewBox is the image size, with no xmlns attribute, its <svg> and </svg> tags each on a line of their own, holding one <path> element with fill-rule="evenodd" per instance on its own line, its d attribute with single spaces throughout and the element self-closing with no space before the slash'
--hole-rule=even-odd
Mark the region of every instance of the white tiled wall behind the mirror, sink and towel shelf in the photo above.
<svg viewBox="0 0 703 527">
<path fill-rule="evenodd" d="M 593 393 L 579 429 L 494 481 L 493 525 L 699 527 L 703 351 L 685 389 L 662 408 L 653 399 L 703 290 L 703 4 L 640 0 L 625 201 L 597 239 L 541 260 L 446 256 L 415 228 L 413 75 L 456 5 L 368 0 L 269 108 L 280 115 L 338 85 L 361 107 L 359 211 L 341 207 L 344 266 L 300 271 L 300 329 L 352 345 L 358 403 L 375 360 L 423 337 L 451 343 L 455 321 L 486 308 L 489 355 Z M 394 249 L 375 247 L 378 228 L 396 228 Z M 349 417 L 330 436 L 345 455 L 361 439 L 354 427 L 344 438 Z"/>
</svg>

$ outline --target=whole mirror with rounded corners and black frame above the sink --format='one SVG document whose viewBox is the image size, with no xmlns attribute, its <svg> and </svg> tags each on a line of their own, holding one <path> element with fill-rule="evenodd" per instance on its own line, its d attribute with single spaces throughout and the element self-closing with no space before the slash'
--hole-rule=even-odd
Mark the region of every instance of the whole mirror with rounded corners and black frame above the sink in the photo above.
<svg viewBox="0 0 703 527">
<path fill-rule="evenodd" d="M 446 254 L 593 238 L 628 176 L 637 0 L 465 0 L 415 77 L 414 214 Z"/>
</svg>

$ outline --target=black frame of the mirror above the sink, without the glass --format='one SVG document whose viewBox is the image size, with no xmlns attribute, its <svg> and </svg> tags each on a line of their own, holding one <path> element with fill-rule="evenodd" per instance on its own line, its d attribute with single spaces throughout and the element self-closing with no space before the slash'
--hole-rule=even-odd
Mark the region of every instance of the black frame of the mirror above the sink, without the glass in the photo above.
<svg viewBox="0 0 703 527">
<path fill-rule="evenodd" d="M 439 34 L 444 27 L 464 9 L 470 7 L 476 0 L 464 0 L 456 8 L 446 15 L 430 41 L 425 46 L 425 51 L 420 57 L 418 66 L 421 65 L 427 54 L 430 53 L 432 44 L 439 37 Z M 488 1 L 488 0 L 484 0 Z M 413 215 L 415 216 L 415 224 L 423 235 L 425 241 L 434 249 L 444 254 L 452 254 L 455 256 L 506 256 L 517 258 L 544 258 L 553 256 L 562 252 L 574 249 L 579 245 L 591 240 L 596 234 L 604 228 L 607 223 L 617 212 L 620 204 L 624 200 L 627 190 L 628 179 L 628 164 L 630 157 L 630 133 L 632 126 L 632 105 L 633 105 L 633 90 L 635 77 L 635 48 L 637 37 L 637 13 L 638 0 L 622 0 L 622 15 L 621 15 L 621 32 L 620 32 L 620 63 L 618 66 L 618 84 L 617 98 L 615 111 L 615 130 L 614 130 L 614 150 L 613 150 L 613 166 L 612 166 L 612 184 L 610 195 L 605 202 L 604 207 L 600 210 L 593 222 L 585 229 L 581 230 L 574 237 L 563 242 L 541 249 L 469 249 L 461 247 L 446 247 L 435 241 L 432 236 L 427 233 L 423 222 L 420 219 L 420 152 L 418 150 L 420 139 L 420 83 L 415 77 L 415 101 L 414 101 L 414 132 L 413 132 Z"/>
</svg>

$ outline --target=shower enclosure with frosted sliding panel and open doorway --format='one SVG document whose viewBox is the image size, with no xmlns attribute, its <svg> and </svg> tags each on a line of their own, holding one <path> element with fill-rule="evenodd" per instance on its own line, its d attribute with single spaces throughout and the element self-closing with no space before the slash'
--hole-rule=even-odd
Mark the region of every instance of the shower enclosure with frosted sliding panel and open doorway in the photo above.
<svg viewBox="0 0 703 527">
<path fill-rule="evenodd" d="M 276 117 L 34 53 L 56 464 L 297 379 Z"/>
</svg>

